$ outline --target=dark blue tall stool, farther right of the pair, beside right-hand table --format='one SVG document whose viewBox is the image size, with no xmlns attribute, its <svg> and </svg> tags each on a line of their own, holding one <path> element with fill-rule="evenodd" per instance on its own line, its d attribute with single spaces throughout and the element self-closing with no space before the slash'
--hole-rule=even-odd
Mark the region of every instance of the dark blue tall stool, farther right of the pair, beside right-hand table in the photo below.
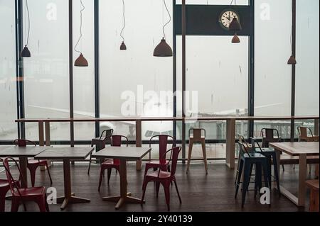
<svg viewBox="0 0 320 226">
<path fill-rule="evenodd" d="M 254 147 L 255 152 L 264 155 L 267 158 L 267 170 L 268 170 L 268 181 L 269 181 L 269 188 L 272 188 L 272 163 L 273 163 L 273 170 L 274 170 L 274 179 L 277 182 L 277 189 L 279 195 L 280 193 L 280 184 L 279 184 L 279 169 L 277 164 L 277 154 L 274 149 L 271 148 L 261 148 L 259 143 L 255 141 L 254 138 L 250 137 L 251 146 Z M 257 148 L 256 145 L 257 144 Z"/>
</svg>

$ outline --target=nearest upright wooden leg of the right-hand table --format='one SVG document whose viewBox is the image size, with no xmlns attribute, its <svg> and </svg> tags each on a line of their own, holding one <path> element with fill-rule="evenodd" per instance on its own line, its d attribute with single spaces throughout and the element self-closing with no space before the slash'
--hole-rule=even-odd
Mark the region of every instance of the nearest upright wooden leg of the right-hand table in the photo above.
<svg viewBox="0 0 320 226">
<path fill-rule="evenodd" d="M 304 206 L 306 200 L 306 154 L 299 155 L 299 193 L 298 206 Z"/>
</svg>

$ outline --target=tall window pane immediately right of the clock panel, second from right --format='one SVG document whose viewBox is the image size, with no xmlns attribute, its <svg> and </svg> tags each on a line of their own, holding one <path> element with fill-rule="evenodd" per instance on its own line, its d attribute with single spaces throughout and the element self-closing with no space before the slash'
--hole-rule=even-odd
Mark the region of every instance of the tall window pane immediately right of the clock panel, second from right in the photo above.
<svg viewBox="0 0 320 226">
<path fill-rule="evenodd" d="M 255 115 L 291 115 L 291 33 L 292 0 L 255 0 Z M 287 138 L 289 126 L 255 121 L 255 136 L 262 128 L 277 128 Z"/>
</svg>

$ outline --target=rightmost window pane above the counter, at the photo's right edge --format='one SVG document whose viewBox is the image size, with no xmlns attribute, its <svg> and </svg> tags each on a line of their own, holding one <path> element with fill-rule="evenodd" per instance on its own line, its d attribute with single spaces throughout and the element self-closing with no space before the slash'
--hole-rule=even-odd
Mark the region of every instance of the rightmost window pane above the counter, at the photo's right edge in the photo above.
<svg viewBox="0 0 320 226">
<path fill-rule="evenodd" d="M 296 115 L 319 115 L 319 1 L 297 0 Z"/>
</svg>

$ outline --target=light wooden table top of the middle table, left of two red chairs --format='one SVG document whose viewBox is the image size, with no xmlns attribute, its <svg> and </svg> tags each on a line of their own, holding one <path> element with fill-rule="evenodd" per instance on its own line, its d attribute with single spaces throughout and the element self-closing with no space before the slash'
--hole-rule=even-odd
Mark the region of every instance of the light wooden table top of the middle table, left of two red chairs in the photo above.
<svg viewBox="0 0 320 226">
<path fill-rule="evenodd" d="M 92 154 L 96 158 L 140 160 L 151 151 L 151 147 L 106 147 Z"/>
</svg>

